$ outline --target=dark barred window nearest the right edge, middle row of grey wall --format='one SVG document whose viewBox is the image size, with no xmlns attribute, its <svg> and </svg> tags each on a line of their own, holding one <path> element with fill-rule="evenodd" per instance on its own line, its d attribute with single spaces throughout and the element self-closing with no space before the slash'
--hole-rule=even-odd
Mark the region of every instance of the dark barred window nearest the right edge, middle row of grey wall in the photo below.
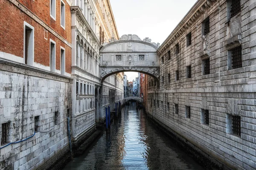
<svg viewBox="0 0 256 170">
<path fill-rule="evenodd" d="M 229 56 L 231 58 L 231 69 L 242 67 L 242 47 L 241 45 L 233 48 L 229 51 Z"/>
</svg>

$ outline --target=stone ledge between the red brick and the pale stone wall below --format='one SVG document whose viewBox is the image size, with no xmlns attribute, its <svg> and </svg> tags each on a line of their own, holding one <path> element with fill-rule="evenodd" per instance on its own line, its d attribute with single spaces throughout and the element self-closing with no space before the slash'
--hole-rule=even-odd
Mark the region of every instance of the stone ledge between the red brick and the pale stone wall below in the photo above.
<svg viewBox="0 0 256 170">
<path fill-rule="evenodd" d="M 41 77 L 44 79 L 54 79 L 61 82 L 73 82 L 73 78 L 71 77 L 67 77 L 47 70 L 42 70 L 40 68 L 36 68 L 23 63 L 14 62 L 8 59 L 0 58 L 0 70 L 34 77 Z"/>
</svg>

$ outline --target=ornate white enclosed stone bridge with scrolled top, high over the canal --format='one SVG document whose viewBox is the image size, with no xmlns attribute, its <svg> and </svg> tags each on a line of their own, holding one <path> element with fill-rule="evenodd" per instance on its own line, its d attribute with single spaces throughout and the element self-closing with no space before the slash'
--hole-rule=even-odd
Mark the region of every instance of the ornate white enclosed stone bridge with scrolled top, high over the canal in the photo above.
<svg viewBox="0 0 256 170">
<path fill-rule="evenodd" d="M 157 85 L 160 84 L 160 63 L 156 53 L 159 44 L 131 34 L 109 41 L 100 50 L 101 83 L 111 74 L 134 71 L 148 74 L 156 80 Z"/>
</svg>

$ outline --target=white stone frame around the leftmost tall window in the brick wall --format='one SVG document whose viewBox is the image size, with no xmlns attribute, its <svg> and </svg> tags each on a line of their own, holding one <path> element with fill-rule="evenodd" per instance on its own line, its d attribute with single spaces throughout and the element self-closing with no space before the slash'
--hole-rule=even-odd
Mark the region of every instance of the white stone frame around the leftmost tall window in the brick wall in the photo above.
<svg viewBox="0 0 256 170">
<path fill-rule="evenodd" d="M 34 55 L 35 55 L 35 37 L 34 37 L 34 30 L 35 28 L 33 26 L 31 26 L 29 23 L 27 23 L 26 21 L 24 21 L 24 25 L 23 25 L 23 63 L 25 64 L 25 41 L 26 41 L 26 27 L 30 28 L 32 30 L 32 37 L 30 37 L 29 41 L 32 41 L 32 51 L 29 52 L 28 56 L 32 56 L 32 57 L 28 57 L 28 65 L 33 66 L 34 65 Z"/>
</svg>

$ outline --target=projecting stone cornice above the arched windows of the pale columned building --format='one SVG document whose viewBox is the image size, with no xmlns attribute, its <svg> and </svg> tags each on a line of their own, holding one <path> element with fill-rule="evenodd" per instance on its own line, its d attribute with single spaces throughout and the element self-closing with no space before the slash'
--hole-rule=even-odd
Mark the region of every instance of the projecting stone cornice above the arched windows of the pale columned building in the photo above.
<svg viewBox="0 0 256 170">
<path fill-rule="evenodd" d="M 81 11 L 81 8 L 79 6 L 71 6 L 71 14 L 76 14 L 76 16 L 79 17 L 79 19 L 81 20 L 81 22 L 84 24 L 84 26 L 87 28 L 88 32 L 92 35 L 93 40 L 95 40 L 95 42 L 97 43 L 97 45 L 99 47 L 101 47 L 101 44 L 98 40 L 98 38 L 96 37 L 96 35 L 93 32 L 93 29 L 90 27 L 89 23 L 87 22 L 87 20 L 84 17 L 84 14 Z"/>
</svg>

